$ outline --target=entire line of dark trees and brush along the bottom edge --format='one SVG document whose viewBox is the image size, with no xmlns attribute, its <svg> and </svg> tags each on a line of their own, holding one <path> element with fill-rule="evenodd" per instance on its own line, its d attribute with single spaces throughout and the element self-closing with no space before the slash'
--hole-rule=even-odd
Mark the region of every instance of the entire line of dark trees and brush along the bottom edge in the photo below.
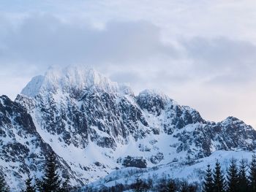
<svg viewBox="0 0 256 192">
<path fill-rule="evenodd" d="M 41 180 L 33 179 L 29 176 L 26 180 L 26 187 L 23 192 L 68 192 L 72 191 L 69 187 L 69 178 L 61 182 L 57 173 L 56 156 L 50 153 L 47 158 L 44 170 L 44 176 Z M 216 162 L 214 169 L 208 164 L 203 183 L 187 183 L 185 180 L 167 179 L 166 177 L 154 178 L 148 177 L 143 180 L 140 176 L 135 178 L 134 183 L 129 185 L 116 184 L 115 186 L 102 188 L 84 188 L 81 191 L 93 192 L 118 192 L 132 190 L 135 192 L 159 191 L 159 192 L 256 192 L 256 155 L 252 155 L 252 161 L 247 165 L 245 159 L 239 164 L 232 158 L 227 168 L 227 173 L 222 171 L 219 161 Z M 79 190 L 78 190 L 79 191 Z M 0 192 L 10 192 L 10 188 L 0 174 Z"/>
</svg>

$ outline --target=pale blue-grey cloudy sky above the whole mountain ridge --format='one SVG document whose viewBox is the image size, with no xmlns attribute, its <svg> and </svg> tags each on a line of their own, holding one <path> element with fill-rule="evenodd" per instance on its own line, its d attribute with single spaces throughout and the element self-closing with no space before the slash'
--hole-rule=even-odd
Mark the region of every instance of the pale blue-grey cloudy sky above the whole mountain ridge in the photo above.
<svg viewBox="0 0 256 192">
<path fill-rule="evenodd" d="M 49 66 L 85 64 L 135 93 L 154 88 L 206 120 L 256 128 L 256 1 L 0 3 L 0 94 Z"/>
</svg>

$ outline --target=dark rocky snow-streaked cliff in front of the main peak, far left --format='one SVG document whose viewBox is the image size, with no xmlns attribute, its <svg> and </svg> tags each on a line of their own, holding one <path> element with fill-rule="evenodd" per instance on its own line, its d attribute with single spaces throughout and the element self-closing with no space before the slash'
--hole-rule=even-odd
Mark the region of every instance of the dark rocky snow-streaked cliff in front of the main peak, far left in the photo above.
<svg viewBox="0 0 256 192">
<path fill-rule="evenodd" d="M 25 180 L 29 173 L 40 177 L 45 159 L 52 151 L 37 133 L 26 108 L 7 96 L 0 97 L 0 148 L 0 169 L 7 176 L 12 190 L 22 188 L 20 181 Z M 61 177 L 72 175 L 66 162 L 56 156 Z M 74 183 L 82 183 L 78 177 L 72 179 Z"/>
</svg>

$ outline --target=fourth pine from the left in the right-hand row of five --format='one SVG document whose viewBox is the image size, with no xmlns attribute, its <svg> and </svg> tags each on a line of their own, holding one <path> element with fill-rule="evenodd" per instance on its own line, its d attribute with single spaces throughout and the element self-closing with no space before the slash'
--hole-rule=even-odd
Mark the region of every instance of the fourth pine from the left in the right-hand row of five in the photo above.
<svg viewBox="0 0 256 192">
<path fill-rule="evenodd" d="M 238 191 L 246 192 L 249 188 L 249 181 L 246 176 L 246 161 L 242 159 L 240 161 L 239 172 L 238 172 Z"/>
</svg>

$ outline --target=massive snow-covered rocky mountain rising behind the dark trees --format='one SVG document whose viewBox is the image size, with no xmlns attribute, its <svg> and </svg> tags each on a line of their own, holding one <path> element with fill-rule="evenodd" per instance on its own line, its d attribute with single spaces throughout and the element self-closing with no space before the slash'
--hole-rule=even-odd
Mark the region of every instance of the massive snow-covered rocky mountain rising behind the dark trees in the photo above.
<svg viewBox="0 0 256 192">
<path fill-rule="evenodd" d="M 256 131 L 237 118 L 208 122 L 162 93 L 135 96 L 86 67 L 49 69 L 15 101 L 0 98 L 0 169 L 14 188 L 29 173 L 42 175 L 50 150 L 61 177 L 83 185 L 125 167 L 191 169 L 220 152 L 255 150 L 255 141 Z"/>
</svg>

